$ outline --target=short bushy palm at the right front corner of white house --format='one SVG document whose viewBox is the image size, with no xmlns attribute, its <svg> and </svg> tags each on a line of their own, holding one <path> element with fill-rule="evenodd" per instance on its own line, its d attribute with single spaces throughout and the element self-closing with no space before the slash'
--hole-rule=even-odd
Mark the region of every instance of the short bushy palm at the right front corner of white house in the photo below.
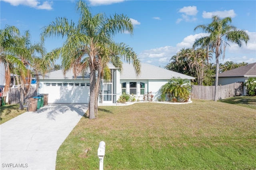
<svg viewBox="0 0 256 170">
<path fill-rule="evenodd" d="M 190 97 L 191 87 L 188 82 L 180 77 L 172 78 L 161 87 L 161 93 L 172 95 L 173 102 L 187 102 Z"/>
</svg>

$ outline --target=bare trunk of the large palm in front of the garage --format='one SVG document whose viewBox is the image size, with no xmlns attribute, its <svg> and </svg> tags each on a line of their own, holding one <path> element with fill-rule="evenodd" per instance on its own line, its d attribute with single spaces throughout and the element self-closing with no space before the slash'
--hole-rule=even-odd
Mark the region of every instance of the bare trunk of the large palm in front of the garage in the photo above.
<svg viewBox="0 0 256 170">
<path fill-rule="evenodd" d="M 93 65 L 90 64 L 89 119 L 95 119 L 94 104 L 95 104 L 95 70 Z"/>
</svg>

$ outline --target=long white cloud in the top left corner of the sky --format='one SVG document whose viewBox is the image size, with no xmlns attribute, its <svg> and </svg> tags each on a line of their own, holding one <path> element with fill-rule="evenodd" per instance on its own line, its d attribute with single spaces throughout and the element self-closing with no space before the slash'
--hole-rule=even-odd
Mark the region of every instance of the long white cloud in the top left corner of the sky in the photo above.
<svg viewBox="0 0 256 170">
<path fill-rule="evenodd" d="M 12 6 L 29 6 L 31 8 L 36 8 L 39 10 L 52 10 L 52 1 L 44 1 L 41 4 L 40 0 L 2 0 L 4 2 L 10 3 Z"/>
</svg>

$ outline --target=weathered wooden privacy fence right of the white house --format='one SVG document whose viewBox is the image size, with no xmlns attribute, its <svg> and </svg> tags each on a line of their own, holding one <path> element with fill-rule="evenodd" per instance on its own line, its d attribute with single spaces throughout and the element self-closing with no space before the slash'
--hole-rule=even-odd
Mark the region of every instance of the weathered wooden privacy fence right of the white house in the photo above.
<svg viewBox="0 0 256 170">
<path fill-rule="evenodd" d="M 215 86 L 192 85 L 191 99 L 214 100 Z M 243 83 L 218 86 L 218 100 L 243 95 Z"/>
</svg>

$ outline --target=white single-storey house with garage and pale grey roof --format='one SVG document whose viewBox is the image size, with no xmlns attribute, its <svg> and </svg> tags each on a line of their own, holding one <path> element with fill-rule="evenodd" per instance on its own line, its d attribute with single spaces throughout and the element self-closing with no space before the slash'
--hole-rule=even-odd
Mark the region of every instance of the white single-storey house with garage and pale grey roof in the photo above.
<svg viewBox="0 0 256 170">
<path fill-rule="evenodd" d="M 160 88 L 172 77 L 191 79 L 174 71 L 170 71 L 154 65 L 142 63 L 141 74 L 136 77 L 132 64 L 124 63 L 120 72 L 113 65 L 109 65 L 112 71 L 112 80 L 103 82 L 100 87 L 99 103 L 116 103 L 122 93 L 135 95 L 143 100 L 143 95 L 152 92 L 154 100 L 160 98 Z M 62 70 L 47 73 L 44 78 L 40 77 L 38 93 L 48 94 L 48 103 L 89 103 L 90 73 L 78 76 L 74 79 L 72 71 L 64 76 Z"/>
</svg>

